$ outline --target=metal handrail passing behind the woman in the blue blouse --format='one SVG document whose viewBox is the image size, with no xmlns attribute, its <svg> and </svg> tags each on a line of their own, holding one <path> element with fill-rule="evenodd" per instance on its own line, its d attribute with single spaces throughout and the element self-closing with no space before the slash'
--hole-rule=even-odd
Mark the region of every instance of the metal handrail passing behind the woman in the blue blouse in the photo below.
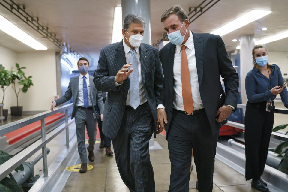
<svg viewBox="0 0 288 192">
<path fill-rule="evenodd" d="M 246 109 L 246 105 L 245 104 L 238 104 L 237 108 Z M 281 113 L 281 114 L 288 114 L 288 110 L 281 109 L 281 108 L 275 108 L 274 112 L 275 113 Z M 232 127 L 238 128 L 238 129 L 245 130 L 245 125 L 241 124 L 241 123 L 228 121 L 225 125 L 229 125 L 229 126 L 232 126 Z M 288 135 L 281 134 L 278 132 L 272 132 L 271 138 L 288 142 Z"/>
</svg>

